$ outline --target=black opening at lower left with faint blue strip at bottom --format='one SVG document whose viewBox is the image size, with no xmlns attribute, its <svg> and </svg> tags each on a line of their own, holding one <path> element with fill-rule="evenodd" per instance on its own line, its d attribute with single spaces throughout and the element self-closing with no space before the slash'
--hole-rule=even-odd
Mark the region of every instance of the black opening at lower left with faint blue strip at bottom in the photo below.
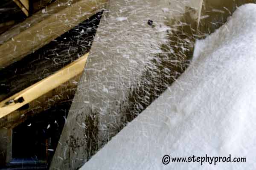
<svg viewBox="0 0 256 170">
<path fill-rule="evenodd" d="M 13 129 L 10 167 L 48 169 L 71 102 L 56 105 Z"/>
</svg>

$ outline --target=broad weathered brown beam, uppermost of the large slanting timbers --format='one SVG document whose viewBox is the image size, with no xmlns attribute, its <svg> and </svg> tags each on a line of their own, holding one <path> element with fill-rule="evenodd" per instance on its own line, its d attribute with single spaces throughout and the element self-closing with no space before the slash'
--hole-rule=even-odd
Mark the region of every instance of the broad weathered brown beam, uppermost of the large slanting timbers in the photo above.
<svg viewBox="0 0 256 170">
<path fill-rule="evenodd" d="M 67 3 L 68 0 L 59 0 L 47 6 L 44 12 L 38 11 L 6 31 L 0 40 L 0 69 L 31 54 L 96 14 L 107 1 L 73 0 L 73 3 Z"/>
</svg>

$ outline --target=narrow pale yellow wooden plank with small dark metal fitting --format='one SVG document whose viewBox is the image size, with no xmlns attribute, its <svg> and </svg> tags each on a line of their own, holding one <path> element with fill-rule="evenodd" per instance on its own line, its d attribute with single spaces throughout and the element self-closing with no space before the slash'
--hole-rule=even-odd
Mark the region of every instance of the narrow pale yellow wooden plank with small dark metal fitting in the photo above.
<svg viewBox="0 0 256 170">
<path fill-rule="evenodd" d="M 0 119 L 81 74 L 87 57 L 88 53 L 55 74 L 0 102 Z"/>
</svg>

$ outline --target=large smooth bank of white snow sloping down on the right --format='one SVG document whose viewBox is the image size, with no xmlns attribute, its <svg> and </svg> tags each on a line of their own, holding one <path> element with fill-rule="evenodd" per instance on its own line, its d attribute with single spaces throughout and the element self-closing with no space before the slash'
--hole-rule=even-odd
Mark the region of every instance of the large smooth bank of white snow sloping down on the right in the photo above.
<svg viewBox="0 0 256 170">
<path fill-rule="evenodd" d="M 81 170 L 253 170 L 256 167 L 256 5 L 198 40 L 189 68 Z M 246 163 L 162 163 L 246 157 Z"/>
</svg>

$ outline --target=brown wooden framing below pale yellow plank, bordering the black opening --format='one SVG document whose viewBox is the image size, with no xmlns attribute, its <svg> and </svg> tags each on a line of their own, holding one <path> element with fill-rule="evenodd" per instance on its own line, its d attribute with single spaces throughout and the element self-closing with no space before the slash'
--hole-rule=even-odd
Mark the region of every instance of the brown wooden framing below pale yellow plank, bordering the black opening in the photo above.
<svg viewBox="0 0 256 170">
<path fill-rule="evenodd" d="M 30 102 L 26 107 L 20 108 L 0 119 L 0 167 L 4 167 L 6 162 L 9 162 L 10 156 L 12 155 L 12 136 L 8 135 L 11 130 L 21 123 L 33 119 L 34 116 L 37 116 L 39 113 L 47 112 L 48 109 L 55 105 L 66 102 L 71 103 L 80 78 L 81 74 L 52 91 L 49 91 L 47 94 L 40 96 Z M 60 108 L 57 108 L 57 113 L 60 112 L 59 109 Z"/>
</svg>

